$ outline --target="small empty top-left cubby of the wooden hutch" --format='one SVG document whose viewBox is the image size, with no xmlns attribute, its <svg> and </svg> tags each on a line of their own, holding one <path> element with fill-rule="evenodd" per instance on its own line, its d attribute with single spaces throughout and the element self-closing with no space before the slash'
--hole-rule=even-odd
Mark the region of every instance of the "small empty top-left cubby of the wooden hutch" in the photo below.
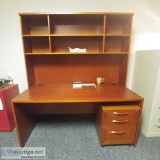
<svg viewBox="0 0 160 160">
<path fill-rule="evenodd" d="M 21 21 L 23 35 L 44 35 L 49 33 L 47 15 L 23 15 Z"/>
</svg>

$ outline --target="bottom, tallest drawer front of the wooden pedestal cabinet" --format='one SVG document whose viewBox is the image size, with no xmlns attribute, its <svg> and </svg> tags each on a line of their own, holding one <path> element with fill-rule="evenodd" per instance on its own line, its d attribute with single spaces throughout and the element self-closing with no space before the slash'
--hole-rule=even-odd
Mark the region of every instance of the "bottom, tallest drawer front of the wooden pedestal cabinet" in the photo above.
<svg viewBox="0 0 160 160">
<path fill-rule="evenodd" d="M 111 129 L 107 126 L 102 126 L 101 144 L 133 144 L 135 139 L 135 133 L 135 126 L 126 129 Z"/>
</svg>

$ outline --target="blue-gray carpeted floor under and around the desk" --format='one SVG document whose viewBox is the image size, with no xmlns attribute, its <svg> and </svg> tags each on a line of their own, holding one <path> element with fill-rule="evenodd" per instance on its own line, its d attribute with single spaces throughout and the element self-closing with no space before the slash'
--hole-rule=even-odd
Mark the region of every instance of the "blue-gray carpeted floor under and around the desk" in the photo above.
<svg viewBox="0 0 160 160">
<path fill-rule="evenodd" d="M 18 147 L 16 131 L 0 133 L 0 147 Z M 39 122 L 26 147 L 46 147 L 47 160 L 160 160 L 160 137 L 140 134 L 136 147 L 99 145 L 92 118 L 63 117 Z"/>
</svg>

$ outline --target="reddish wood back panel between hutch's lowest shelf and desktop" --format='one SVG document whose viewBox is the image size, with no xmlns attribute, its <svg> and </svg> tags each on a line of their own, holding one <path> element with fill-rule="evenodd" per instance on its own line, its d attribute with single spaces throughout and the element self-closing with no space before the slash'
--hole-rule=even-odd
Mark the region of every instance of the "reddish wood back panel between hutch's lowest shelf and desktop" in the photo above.
<svg viewBox="0 0 160 160">
<path fill-rule="evenodd" d="M 33 62 L 35 84 L 95 82 L 102 76 L 106 83 L 121 83 L 120 72 L 125 55 L 42 55 L 28 57 Z M 122 64 L 123 65 L 123 64 Z M 29 66 L 28 66 L 29 67 Z M 124 84 L 125 82 L 123 82 Z"/>
</svg>

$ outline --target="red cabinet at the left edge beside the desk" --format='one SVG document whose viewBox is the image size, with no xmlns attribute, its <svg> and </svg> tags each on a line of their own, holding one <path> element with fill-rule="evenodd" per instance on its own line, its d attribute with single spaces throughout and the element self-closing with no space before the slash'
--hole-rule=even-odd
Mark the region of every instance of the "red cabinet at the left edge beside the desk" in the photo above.
<svg viewBox="0 0 160 160">
<path fill-rule="evenodd" d="M 10 84 L 0 89 L 0 132 L 11 132 L 15 127 L 11 100 L 18 94 L 19 89 L 17 84 Z"/>
</svg>

